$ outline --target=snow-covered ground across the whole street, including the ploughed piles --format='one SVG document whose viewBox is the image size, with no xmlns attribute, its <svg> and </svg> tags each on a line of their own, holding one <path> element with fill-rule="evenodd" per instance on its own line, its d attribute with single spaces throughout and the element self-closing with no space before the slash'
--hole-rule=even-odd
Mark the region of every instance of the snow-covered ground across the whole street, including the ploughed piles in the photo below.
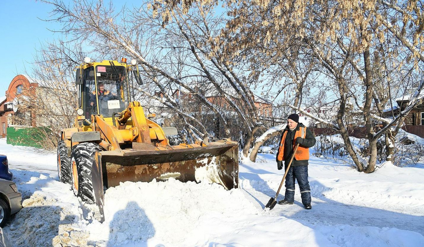
<svg viewBox="0 0 424 247">
<path fill-rule="evenodd" d="M 264 211 L 282 178 L 275 155 L 240 165 L 240 187 L 126 182 L 108 189 L 99 223 L 90 205 L 57 181 L 56 154 L 0 139 L 24 208 L 5 228 L 16 247 L 422 247 L 424 169 L 384 165 L 373 174 L 312 157 L 312 210 Z M 282 192 L 284 193 L 284 192 Z M 279 199 L 282 199 L 280 195 Z"/>
</svg>

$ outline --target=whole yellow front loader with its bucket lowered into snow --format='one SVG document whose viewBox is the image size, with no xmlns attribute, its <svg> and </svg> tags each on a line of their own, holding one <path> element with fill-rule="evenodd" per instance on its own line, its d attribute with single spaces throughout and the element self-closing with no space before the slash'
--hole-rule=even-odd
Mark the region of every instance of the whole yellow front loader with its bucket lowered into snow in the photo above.
<svg viewBox="0 0 424 247">
<path fill-rule="evenodd" d="M 229 139 L 171 146 L 162 128 L 130 97 L 128 75 L 142 84 L 135 62 L 92 62 L 76 69 L 78 109 L 73 128 L 61 130 L 58 173 L 76 196 L 96 203 L 103 217 L 104 189 L 124 181 L 182 182 L 238 186 L 238 146 Z"/>
</svg>

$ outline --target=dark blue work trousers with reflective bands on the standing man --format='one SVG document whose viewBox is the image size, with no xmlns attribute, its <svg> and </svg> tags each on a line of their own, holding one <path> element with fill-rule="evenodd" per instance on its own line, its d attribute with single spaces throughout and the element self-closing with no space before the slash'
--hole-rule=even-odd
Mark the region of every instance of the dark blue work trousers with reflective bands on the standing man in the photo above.
<svg viewBox="0 0 424 247">
<path fill-rule="evenodd" d="M 285 169 L 287 166 L 285 167 Z M 286 176 L 286 194 L 284 199 L 288 202 L 294 202 L 294 180 L 300 188 L 300 195 L 302 197 L 303 204 L 311 203 L 311 189 L 308 181 L 308 166 L 290 166 L 289 172 Z"/>
</svg>

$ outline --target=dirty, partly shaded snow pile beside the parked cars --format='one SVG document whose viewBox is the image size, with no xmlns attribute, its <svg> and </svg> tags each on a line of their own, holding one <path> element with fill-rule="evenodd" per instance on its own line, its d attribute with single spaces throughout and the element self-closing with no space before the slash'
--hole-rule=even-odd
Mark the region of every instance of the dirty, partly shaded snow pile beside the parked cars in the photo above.
<svg viewBox="0 0 424 247">
<path fill-rule="evenodd" d="M 83 207 L 69 185 L 38 172 L 13 173 L 14 182 L 26 198 L 7 229 L 14 247 L 87 246 L 89 234 L 81 230 L 87 224 Z"/>
</svg>

